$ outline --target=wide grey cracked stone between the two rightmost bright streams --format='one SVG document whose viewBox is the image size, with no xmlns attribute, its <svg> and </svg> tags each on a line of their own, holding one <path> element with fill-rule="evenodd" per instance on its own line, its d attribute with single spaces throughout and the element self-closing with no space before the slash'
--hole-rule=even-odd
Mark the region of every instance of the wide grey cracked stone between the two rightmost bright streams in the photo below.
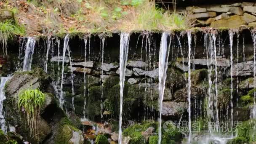
<svg viewBox="0 0 256 144">
<path fill-rule="evenodd" d="M 253 75 L 253 61 L 245 61 L 233 65 L 233 76 L 252 76 Z M 230 75 L 230 73 L 229 73 Z"/>
</svg>

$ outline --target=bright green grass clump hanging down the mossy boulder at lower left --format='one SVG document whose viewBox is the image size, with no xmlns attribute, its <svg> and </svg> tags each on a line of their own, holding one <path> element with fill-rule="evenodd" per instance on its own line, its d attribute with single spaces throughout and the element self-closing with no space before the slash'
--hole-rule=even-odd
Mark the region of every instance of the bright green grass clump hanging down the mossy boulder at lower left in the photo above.
<svg viewBox="0 0 256 144">
<path fill-rule="evenodd" d="M 18 107 L 19 109 L 24 108 L 30 136 L 34 136 L 36 140 L 39 140 L 37 117 L 44 101 L 45 94 L 38 89 L 22 90 L 19 93 Z"/>
</svg>

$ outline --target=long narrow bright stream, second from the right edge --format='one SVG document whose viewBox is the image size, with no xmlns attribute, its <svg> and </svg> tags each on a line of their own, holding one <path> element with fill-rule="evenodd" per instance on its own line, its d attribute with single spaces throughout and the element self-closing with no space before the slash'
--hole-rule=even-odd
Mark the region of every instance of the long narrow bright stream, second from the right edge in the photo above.
<svg viewBox="0 0 256 144">
<path fill-rule="evenodd" d="M 230 78 L 231 78 L 231 84 L 230 84 L 230 114 L 231 114 L 231 128 L 233 128 L 233 37 L 234 37 L 234 32 L 232 30 L 229 30 L 229 43 L 230 43 Z"/>
</svg>

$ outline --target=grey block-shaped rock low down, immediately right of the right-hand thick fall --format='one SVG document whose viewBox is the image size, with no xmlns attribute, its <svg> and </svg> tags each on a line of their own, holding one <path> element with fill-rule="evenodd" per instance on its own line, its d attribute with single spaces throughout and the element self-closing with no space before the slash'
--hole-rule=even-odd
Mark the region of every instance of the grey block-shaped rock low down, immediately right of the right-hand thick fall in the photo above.
<svg viewBox="0 0 256 144">
<path fill-rule="evenodd" d="M 163 116 L 178 116 L 187 110 L 186 102 L 163 101 Z"/>
</svg>

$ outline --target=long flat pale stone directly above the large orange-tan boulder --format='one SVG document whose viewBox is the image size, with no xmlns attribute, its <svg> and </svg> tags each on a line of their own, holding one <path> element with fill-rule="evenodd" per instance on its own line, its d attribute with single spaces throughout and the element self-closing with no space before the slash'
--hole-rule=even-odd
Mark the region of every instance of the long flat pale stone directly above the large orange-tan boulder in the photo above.
<svg viewBox="0 0 256 144">
<path fill-rule="evenodd" d="M 243 10 L 240 7 L 213 7 L 207 8 L 207 11 L 215 11 L 219 13 L 231 12 L 243 16 Z"/>
</svg>

